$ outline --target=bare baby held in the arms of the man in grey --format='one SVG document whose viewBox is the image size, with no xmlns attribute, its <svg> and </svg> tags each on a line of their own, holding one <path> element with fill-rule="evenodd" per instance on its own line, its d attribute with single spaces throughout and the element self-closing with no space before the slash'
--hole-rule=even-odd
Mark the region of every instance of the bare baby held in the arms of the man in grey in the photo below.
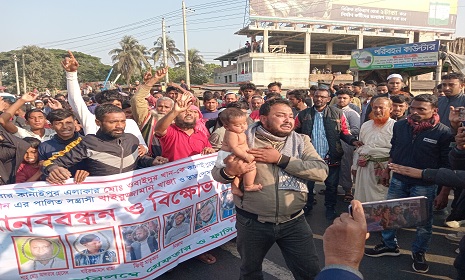
<svg viewBox="0 0 465 280">
<path fill-rule="evenodd" d="M 247 153 L 249 146 L 247 145 L 247 136 L 244 133 L 247 130 L 246 113 L 237 108 L 227 108 L 221 112 L 220 120 L 226 131 L 215 165 L 219 168 L 225 167 L 223 160 L 231 153 L 248 163 L 254 161 L 254 156 Z M 259 191 L 262 189 L 262 185 L 254 183 L 256 173 L 254 169 L 242 175 L 245 191 Z M 239 188 L 239 182 L 240 179 L 236 177 L 231 183 L 231 192 L 242 197 L 244 194 Z"/>
</svg>

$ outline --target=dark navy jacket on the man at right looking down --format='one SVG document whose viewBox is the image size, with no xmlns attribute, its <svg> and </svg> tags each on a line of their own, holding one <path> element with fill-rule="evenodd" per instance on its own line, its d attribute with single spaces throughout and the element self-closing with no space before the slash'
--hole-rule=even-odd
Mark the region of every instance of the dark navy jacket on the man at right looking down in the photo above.
<svg viewBox="0 0 465 280">
<path fill-rule="evenodd" d="M 442 123 L 414 136 L 413 128 L 408 124 L 408 121 L 401 120 L 394 124 L 390 157 L 393 163 L 418 169 L 449 168 L 449 152 L 452 141 L 453 136 L 450 128 Z M 394 173 L 392 177 L 408 184 L 422 186 L 426 183 L 422 179 L 414 179 L 398 173 Z M 433 184 L 427 183 L 426 185 Z"/>
</svg>

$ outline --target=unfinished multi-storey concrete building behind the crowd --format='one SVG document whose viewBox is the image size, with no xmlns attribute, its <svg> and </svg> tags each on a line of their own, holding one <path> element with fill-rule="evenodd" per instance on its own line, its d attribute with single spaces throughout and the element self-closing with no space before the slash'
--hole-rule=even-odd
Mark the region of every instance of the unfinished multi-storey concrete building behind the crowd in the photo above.
<svg viewBox="0 0 465 280">
<path fill-rule="evenodd" d="M 292 20 L 254 20 L 235 34 L 244 35 L 257 47 L 237 49 L 215 60 L 222 68 L 215 69 L 214 82 L 231 84 L 252 82 L 266 86 L 280 81 L 286 88 L 307 88 L 312 77 L 324 73 L 353 74 L 349 70 L 351 51 L 393 44 L 450 41 L 455 30 L 428 31 L 393 25 L 390 28 L 376 24 L 350 23 L 342 25 L 300 23 Z M 338 77 L 340 82 L 353 80 L 352 76 Z"/>
</svg>

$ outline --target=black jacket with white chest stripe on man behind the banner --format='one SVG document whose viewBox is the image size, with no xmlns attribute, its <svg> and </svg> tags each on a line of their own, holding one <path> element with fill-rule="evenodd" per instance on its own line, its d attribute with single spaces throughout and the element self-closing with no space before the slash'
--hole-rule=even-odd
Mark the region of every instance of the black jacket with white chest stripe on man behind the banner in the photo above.
<svg viewBox="0 0 465 280">
<path fill-rule="evenodd" d="M 98 130 L 96 135 L 78 138 L 44 161 L 43 173 L 47 176 L 53 165 L 69 168 L 81 161 L 90 176 L 107 176 L 132 171 L 137 166 L 152 166 L 154 159 L 139 157 L 138 147 L 139 140 L 132 134 L 124 133 L 119 138 L 112 138 Z"/>
</svg>

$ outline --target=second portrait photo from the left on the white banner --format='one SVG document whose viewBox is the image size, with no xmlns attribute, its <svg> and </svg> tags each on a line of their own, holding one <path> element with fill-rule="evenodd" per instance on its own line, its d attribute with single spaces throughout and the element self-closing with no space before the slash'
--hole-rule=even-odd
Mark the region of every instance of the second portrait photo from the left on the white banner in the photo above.
<svg viewBox="0 0 465 280">
<path fill-rule="evenodd" d="M 66 234 L 66 241 L 72 250 L 74 267 L 120 263 L 113 227 Z"/>
</svg>

